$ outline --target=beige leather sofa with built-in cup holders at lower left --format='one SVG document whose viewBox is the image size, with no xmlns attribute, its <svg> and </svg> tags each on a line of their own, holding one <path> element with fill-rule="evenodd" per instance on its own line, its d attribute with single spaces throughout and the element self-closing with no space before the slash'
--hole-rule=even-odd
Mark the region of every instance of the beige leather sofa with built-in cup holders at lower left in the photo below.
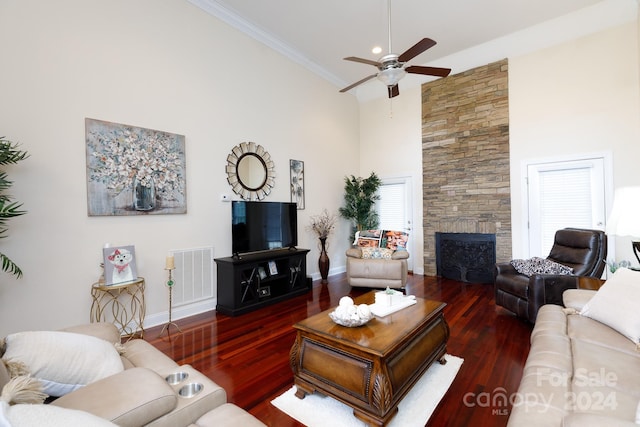
<svg viewBox="0 0 640 427">
<path fill-rule="evenodd" d="M 120 342 L 118 330 L 109 323 L 80 325 L 64 331 L 101 338 L 108 343 Z M 9 344 L 6 353 L 2 351 L 5 355 L 9 353 L 8 347 Z M 246 411 L 226 403 L 226 393 L 216 383 L 189 365 L 179 366 L 148 342 L 130 340 L 123 344 L 120 353 L 124 370 L 84 385 L 50 404 L 30 405 L 26 410 L 33 413 L 47 406 L 66 408 L 70 413 L 79 410 L 118 426 L 264 426 Z M 116 358 L 117 354 L 116 351 Z M 6 365 L 0 363 L 0 390 L 10 380 Z M 174 375 L 178 373 L 181 375 Z M 181 378 L 184 375 L 186 378 Z M 200 384 L 202 389 L 196 393 L 193 384 Z M 191 393 L 185 393 L 189 390 Z M 4 403 L 6 412 L 24 406 L 9 407 Z"/>
</svg>

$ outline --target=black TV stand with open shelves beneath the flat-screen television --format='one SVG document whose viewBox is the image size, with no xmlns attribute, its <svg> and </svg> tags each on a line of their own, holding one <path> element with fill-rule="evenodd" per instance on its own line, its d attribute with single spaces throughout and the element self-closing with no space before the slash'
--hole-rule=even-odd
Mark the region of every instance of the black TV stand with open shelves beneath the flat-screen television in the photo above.
<svg viewBox="0 0 640 427">
<path fill-rule="evenodd" d="M 311 289 L 307 277 L 309 249 L 279 249 L 216 258 L 216 311 L 236 316 Z"/>
</svg>

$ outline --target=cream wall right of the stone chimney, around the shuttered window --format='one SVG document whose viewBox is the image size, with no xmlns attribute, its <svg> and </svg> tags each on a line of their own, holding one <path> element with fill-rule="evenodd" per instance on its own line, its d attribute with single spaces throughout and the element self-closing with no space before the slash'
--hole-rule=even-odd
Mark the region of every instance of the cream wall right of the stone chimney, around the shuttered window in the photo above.
<svg viewBox="0 0 640 427">
<path fill-rule="evenodd" d="M 640 184 L 637 31 L 637 22 L 632 22 L 509 59 L 515 257 L 524 253 L 526 238 L 521 179 L 525 160 L 610 151 L 613 187 Z M 607 194 L 609 202 L 612 197 Z M 637 264 L 629 240 L 616 240 L 609 259 Z"/>
</svg>

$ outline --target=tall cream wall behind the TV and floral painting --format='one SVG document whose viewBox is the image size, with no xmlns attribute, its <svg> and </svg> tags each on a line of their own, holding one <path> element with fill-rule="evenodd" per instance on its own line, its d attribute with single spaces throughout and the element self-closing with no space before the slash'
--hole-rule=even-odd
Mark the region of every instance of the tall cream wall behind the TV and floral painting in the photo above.
<svg viewBox="0 0 640 427">
<path fill-rule="evenodd" d="M 299 246 L 318 276 L 305 228 L 337 211 L 343 177 L 358 173 L 354 97 L 182 0 L 0 0 L 0 40 L 0 134 L 31 154 L 7 168 L 28 214 L 0 246 L 24 271 L 0 276 L 0 336 L 88 321 L 105 242 L 135 245 L 147 320 L 166 321 L 167 253 L 231 255 L 219 197 L 231 194 L 226 156 L 242 141 L 275 161 L 269 200 L 290 200 L 289 159 L 305 162 Z M 88 217 L 85 117 L 185 135 L 188 213 Z M 347 233 L 342 221 L 336 235 Z M 332 271 L 343 270 L 347 242 L 332 239 Z"/>
</svg>

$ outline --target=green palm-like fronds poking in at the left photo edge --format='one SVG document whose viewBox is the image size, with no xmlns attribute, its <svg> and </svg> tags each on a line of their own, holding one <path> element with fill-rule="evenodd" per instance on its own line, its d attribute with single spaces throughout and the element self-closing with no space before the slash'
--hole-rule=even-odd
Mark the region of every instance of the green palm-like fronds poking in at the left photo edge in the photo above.
<svg viewBox="0 0 640 427">
<path fill-rule="evenodd" d="M 5 137 L 0 137 L 0 166 L 18 163 L 29 155 L 25 151 L 18 149 L 19 145 L 13 143 Z M 7 221 L 13 217 L 24 215 L 26 211 L 21 210 L 22 203 L 14 202 L 13 198 L 6 192 L 11 188 L 12 181 L 7 179 L 7 173 L 0 171 L 0 239 L 7 237 L 9 227 Z M 0 252 L 0 263 L 2 271 L 13 274 L 16 277 L 22 276 L 22 270 L 4 253 Z"/>
</svg>

